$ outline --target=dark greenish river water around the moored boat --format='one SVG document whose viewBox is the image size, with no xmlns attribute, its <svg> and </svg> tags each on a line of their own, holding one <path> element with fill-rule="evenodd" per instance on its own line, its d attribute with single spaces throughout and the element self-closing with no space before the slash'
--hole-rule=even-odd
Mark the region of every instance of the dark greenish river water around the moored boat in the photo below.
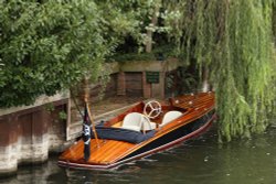
<svg viewBox="0 0 276 184">
<path fill-rule="evenodd" d="M 7 184 L 275 184 L 276 127 L 252 139 L 217 143 L 212 128 L 169 151 L 110 171 L 60 167 L 57 155 L 42 165 L 20 166 Z"/>
</svg>

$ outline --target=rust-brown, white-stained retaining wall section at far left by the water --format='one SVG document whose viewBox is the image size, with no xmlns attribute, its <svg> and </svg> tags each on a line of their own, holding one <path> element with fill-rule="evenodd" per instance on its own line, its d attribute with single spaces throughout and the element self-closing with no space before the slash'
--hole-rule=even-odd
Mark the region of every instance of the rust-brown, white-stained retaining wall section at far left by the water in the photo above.
<svg viewBox="0 0 276 184">
<path fill-rule="evenodd" d="M 61 151 L 66 141 L 66 120 L 59 118 L 66 110 L 67 99 L 26 108 L 0 116 L 0 175 L 15 172 L 19 164 L 41 163 L 50 151 Z"/>
</svg>

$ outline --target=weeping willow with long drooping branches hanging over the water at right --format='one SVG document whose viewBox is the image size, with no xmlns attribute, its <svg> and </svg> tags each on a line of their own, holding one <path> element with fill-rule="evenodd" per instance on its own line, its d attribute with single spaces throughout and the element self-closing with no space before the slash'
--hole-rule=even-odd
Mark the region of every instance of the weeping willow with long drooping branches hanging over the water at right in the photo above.
<svg viewBox="0 0 276 184">
<path fill-rule="evenodd" d="M 167 7 L 174 14 L 166 19 L 171 40 L 198 63 L 199 74 L 203 67 L 211 72 L 221 138 L 264 131 L 276 111 L 273 1 L 187 0 Z"/>
</svg>

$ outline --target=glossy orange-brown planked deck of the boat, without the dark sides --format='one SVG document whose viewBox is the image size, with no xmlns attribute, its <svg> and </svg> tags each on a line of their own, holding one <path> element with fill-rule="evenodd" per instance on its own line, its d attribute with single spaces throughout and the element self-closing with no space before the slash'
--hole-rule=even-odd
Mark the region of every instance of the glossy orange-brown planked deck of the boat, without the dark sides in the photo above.
<svg viewBox="0 0 276 184">
<path fill-rule="evenodd" d="M 185 95 L 181 98 L 171 99 L 170 101 L 174 107 L 185 109 L 185 116 L 182 116 L 181 120 L 168 123 L 167 126 L 162 127 L 161 129 L 157 129 L 157 132 L 153 138 L 144 141 L 141 143 L 129 143 L 116 140 L 103 140 L 98 139 L 98 144 L 95 139 L 91 140 L 91 158 L 88 161 L 85 161 L 84 158 L 84 142 L 79 140 L 70 149 L 67 149 L 63 154 L 59 158 L 60 161 L 63 162 L 73 162 L 78 164 L 86 164 L 86 165 L 107 165 L 118 162 L 124 156 L 128 155 L 129 153 L 138 150 L 142 145 L 147 144 L 148 142 L 162 137 L 163 134 L 177 129 L 183 123 L 189 123 L 194 119 L 199 118 L 206 113 L 214 108 L 214 94 L 200 94 L 198 96 L 193 95 Z M 156 119 L 153 121 L 160 123 L 160 119 Z M 112 120 L 116 121 L 116 119 Z M 109 126 L 116 126 L 113 123 Z"/>
</svg>

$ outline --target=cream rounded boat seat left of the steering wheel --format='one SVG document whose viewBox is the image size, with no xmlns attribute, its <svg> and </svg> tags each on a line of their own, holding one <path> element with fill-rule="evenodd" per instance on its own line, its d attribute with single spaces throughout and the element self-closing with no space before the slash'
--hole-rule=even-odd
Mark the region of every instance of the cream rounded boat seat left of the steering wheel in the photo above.
<svg viewBox="0 0 276 184">
<path fill-rule="evenodd" d="M 128 130 L 140 131 L 142 118 L 144 117 L 141 113 L 130 112 L 124 118 L 121 128 L 128 129 Z"/>
</svg>

